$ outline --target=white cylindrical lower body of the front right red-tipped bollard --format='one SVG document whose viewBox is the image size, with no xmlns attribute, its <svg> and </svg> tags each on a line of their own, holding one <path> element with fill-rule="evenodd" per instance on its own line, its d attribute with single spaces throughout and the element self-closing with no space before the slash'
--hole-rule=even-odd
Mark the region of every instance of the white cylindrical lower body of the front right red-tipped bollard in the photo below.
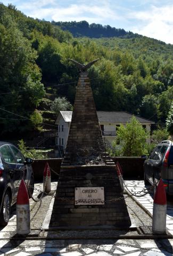
<svg viewBox="0 0 173 256">
<path fill-rule="evenodd" d="M 167 205 L 153 204 L 152 231 L 154 234 L 166 233 Z"/>
</svg>

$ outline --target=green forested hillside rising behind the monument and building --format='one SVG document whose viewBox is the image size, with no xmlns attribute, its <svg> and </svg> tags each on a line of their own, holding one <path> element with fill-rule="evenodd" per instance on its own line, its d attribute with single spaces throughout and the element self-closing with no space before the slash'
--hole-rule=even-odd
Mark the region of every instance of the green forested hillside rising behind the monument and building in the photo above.
<svg viewBox="0 0 173 256">
<path fill-rule="evenodd" d="M 73 105 L 79 71 L 68 58 L 100 58 L 88 70 L 97 110 L 129 111 L 165 125 L 173 99 L 173 45 L 143 36 L 74 38 L 54 25 L 0 4 L 1 136 L 36 129 L 37 117 L 53 127 L 55 117 L 45 111 L 51 114 L 55 98 Z"/>
</svg>

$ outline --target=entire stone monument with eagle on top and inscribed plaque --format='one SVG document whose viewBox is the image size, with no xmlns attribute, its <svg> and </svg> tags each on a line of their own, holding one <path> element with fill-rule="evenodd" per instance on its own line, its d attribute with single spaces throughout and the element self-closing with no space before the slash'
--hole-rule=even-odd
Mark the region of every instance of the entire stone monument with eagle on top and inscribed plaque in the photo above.
<svg viewBox="0 0 173 256">
<path fill-rule="evenodd" d="M 98 60 L 98 59 L 97 59 Z M 87 69 L 81 65 L 67 148 L 50 227 L 86 228 L 131 225 L 116 165 L 104 161 L 104 143 Z"/>
</svg>

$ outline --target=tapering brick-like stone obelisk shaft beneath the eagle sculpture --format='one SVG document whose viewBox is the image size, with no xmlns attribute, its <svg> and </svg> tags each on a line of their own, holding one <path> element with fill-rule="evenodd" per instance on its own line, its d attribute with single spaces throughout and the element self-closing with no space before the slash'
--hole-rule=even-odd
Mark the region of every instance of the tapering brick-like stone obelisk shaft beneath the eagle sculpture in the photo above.
<svg viewBox="0 0 173 256">
<path fill-rule="evenodd" d="M 95 61 L 94 61 L 95 62 Z M 103 151 L 103 138 L 98 122 L 88 73 L 83 69 L 76 89 L 69 137 L 63 165 L 80 164 L 83 158 L 97 157 Z"/>
</svg>

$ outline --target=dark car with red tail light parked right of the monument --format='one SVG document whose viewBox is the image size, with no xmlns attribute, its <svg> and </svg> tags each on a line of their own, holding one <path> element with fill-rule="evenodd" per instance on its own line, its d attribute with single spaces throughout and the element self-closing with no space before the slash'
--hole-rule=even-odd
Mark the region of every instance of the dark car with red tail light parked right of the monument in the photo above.
<svg viewBox="0 0 173 256">
<path fill-rule="evenodd" d="M 166 193 L 173 195 L 173 142 L 164 140 L 158 144 L 144 162 L 145 185 L 162 179 Z"/>
</svg>

